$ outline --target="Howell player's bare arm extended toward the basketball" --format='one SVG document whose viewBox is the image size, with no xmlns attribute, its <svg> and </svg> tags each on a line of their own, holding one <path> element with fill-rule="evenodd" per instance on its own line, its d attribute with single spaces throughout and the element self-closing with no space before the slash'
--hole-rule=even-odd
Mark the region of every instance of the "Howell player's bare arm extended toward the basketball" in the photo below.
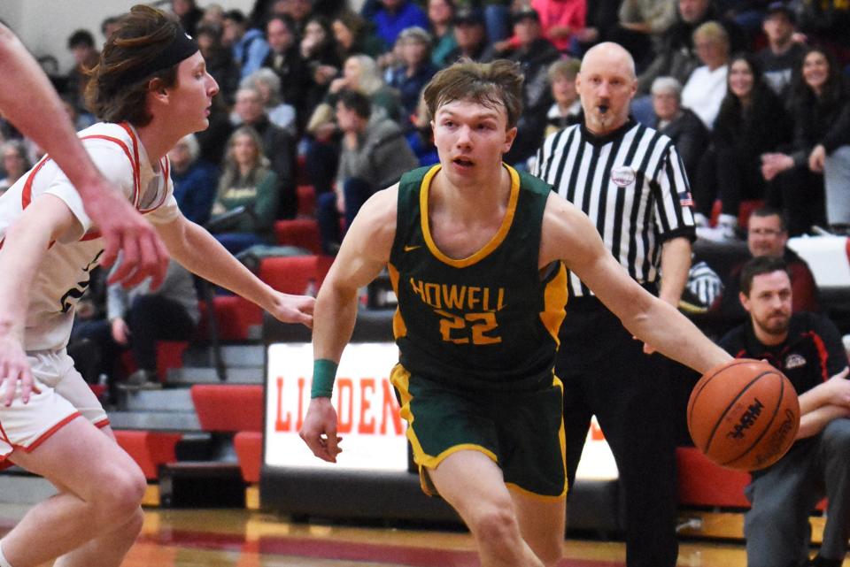
<svg viewBox="0 0 850 567">
<path fill-rule="evenodd" d="M 605 248 L 591 220 L 552 194 L 544 216 L 541 266 L 558 259 L 576 272 L 630 333 L 664 356 L 700 373 L 731 359 L 678 310 L 632 280 Z"/>
</svg>

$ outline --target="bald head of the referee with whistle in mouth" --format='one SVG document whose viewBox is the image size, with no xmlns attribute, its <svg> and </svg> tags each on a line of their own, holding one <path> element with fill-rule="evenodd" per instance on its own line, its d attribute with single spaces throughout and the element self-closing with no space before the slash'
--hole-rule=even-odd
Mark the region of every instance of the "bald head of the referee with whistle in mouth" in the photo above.
<svg viewBox="0 0 850 567">
<path fill-rule="evenodd" d="M 604 135 L 625 124 L 637 89 L 635 60 L 628 51 L 613 42 L 592 47 L 584 54 L 576 78 L 584 126 L 593 134 Z"/>
</svg>

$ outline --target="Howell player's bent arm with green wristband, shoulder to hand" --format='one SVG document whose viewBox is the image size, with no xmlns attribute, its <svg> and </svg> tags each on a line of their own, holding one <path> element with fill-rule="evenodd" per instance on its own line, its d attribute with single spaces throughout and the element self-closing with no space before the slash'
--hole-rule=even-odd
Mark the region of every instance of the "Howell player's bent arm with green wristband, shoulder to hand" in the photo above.
<svg viewBox="0 0 850 567">
<path fill-rule="evenodd" d="M 357 293 L 390 260 L 396 234 L 398 186 L 379 191 L 360 209 L 316 299 L 313 325 L 313 392 L 301 439 L 313 455 L 336 463 L 336 410 L 330 402 L 336 364 L 352 338 Z"/>
</svg>

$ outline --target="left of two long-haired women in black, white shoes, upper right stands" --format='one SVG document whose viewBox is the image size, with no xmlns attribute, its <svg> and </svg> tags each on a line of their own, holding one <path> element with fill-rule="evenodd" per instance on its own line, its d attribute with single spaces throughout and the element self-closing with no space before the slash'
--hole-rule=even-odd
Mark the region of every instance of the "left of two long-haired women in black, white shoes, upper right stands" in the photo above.
<svg viewBox="0 0 850 567">
<path fill-rule="evenodd" d="M 755 56 L 741 53 L 732 57 L 728 92 L 712 133 L 712 149 L 703 154 L 699 180 L 692 184 L 700 238 L 736 238 L 741 202 L 764 200 L 767 193 L 761 155 L 776 151 L 791 139 L 791 118 L 764 80 Z M 715 198 L 721 200 L 723 208 L 717 226 L 708 228 Z"/>
</svg>

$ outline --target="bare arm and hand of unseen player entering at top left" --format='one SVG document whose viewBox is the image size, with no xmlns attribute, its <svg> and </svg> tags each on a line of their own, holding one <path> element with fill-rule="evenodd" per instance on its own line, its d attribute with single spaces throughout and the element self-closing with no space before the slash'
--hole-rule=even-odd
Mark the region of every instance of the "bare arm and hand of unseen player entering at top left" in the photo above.
<svg viewBox="0 0 850 567">
<path fill-rule="evenodd" d="M 111 281 L 134 286 L 151 276 L 158 287 L 168 254 L 153 227 L 112 190 L 73 131 L 50 80 L 12 32 L 0 24 L 0 111 L 50 154 L 82 196 L 89 217 L 104 235 L 104 265 L 124 254 Z"/>
</svg>

